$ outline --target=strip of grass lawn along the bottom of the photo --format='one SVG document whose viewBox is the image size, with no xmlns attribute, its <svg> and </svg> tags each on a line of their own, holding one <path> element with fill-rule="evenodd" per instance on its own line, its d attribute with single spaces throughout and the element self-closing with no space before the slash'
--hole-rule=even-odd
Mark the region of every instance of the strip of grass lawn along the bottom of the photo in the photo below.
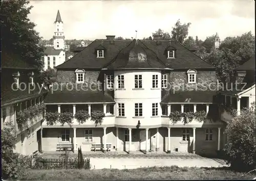
<svg viewBox="0 0 256 181">
<path fill-rule="evenodd" d="M 139 180 L 139 179 L 252 179 L 249 174 L 230 171 L 229 168 L 151 167 L 138 169 L 101 170 L 26 170 L 19 180 Z"/>
</svg>

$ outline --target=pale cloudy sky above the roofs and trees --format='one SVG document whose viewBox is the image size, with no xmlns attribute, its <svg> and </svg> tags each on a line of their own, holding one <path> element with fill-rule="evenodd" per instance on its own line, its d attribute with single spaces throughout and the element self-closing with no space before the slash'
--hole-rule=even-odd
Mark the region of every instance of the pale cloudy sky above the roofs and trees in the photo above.
<svg viewBox="0 0 256 181">
<path fill-rule="evenodd" d="M 29 19 L 43 39 L 51 39 L 57 11 L 65 39 L 105 39 L 106 35 L 143 39 L 158 29 L 170 33 L 180 19 L 188 36 L 221 40 L 255 32 L 255 2 L 232 1 L 30 1 Z"/>
</svg>

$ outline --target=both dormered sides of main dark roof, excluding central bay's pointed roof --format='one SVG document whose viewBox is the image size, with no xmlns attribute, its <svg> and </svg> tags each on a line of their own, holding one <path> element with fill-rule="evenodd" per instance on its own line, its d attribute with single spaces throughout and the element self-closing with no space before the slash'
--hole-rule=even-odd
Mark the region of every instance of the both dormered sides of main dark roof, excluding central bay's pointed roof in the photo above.
<svg viewBox="0 0 256 181">
<path fill-rule="evenodd" d="M 135 40 L 133 40 L 135 42 Z M 189 51 L 180 43 L 172 40 L 137 40 L 140 47 L 143 47 L 146 54 L 157 57 L 157 60 L 163 62 L 168 68 L 173 69 L 215 69 L 214 66 L 208 64 L 200 57 Z M 157 43 L 160 42 L 160 43 Z M 113 59 L 118 59 L 118 56 L 131 48 L 131 40 L 115 40 L 111 43 L 110 40 L 95 40 L 87 47 L 75 55 L 72 59 L 57 66 L 56 68 L 103 68 Z M 104 58 L 97 58 L 97 47 L 102 45 L 105 48 Z M 166 48 L 172 46 L 176 49 L 176 58 L 167 59 Z M 142 49 L 143 49 L 142 48 Z M 121 53 L 122 51 L 123 53 Z M 125 54 L 127 55 L 127 54 Z M 123 61 L 121 58 L 118 61 Z M 127 60 L 127 58 L 126 58 Z"/>
</svg>

